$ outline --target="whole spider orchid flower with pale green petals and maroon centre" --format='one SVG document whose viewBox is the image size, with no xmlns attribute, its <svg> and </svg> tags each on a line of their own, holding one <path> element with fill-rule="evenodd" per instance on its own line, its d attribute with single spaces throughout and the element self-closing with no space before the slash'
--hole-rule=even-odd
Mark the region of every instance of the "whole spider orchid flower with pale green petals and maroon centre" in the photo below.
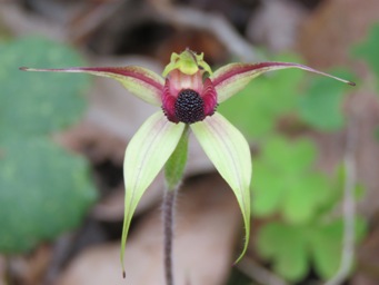
<svg viewBox="0 0 379 285">
<path fill-rule="evenodd" d="M 203 53 L 197 55 L 188 49 L 180 55 L 172 53 L 162 77 L 138 66 L 21 69 L 84 72 L 113 78 L 134 96 L 161 108 L 144 121 L 126 149 L 126 208 L 121 239 L 123 267 L 126 240 L 136 207 L 164 165 L 172 165 L 168 161 L 181 145 L 180 141 L 188 137 L 188 129 L 193 132 L 236 195 L 245 224 L 245 246 L 237 262 L 243 256 L 250 233 L 251 155 L 249 144 L 241 132 L 216 109 L 219 104 L 245 88 L 251 79 L 268 71 L 287 68 L 302 69 L 353 85 L 310 67 L 290 62 L 230 63 L 212 72 L 203 60 Z M 179 178 L 174 177 L 174 169 L 171 173 L 167 169 L 167 173 L 168 186 L 172 188 Z M 181 176 L 182 171 L 178 175 Z"/>
</svg>

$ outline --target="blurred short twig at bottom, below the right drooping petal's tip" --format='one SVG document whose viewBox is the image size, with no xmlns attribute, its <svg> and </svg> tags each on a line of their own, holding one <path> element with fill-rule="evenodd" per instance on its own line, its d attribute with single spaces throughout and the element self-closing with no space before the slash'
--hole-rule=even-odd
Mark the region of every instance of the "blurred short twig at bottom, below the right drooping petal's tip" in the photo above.
<svg viewBox="0 0 379 285">
<path fill-rule="evenodd" d="M 243 274 L 263 285 L 287 285 L 287 283 L 272 272 L 259 266 L 253 259 L 246 256 L 237 264 Z"/>
</svg>

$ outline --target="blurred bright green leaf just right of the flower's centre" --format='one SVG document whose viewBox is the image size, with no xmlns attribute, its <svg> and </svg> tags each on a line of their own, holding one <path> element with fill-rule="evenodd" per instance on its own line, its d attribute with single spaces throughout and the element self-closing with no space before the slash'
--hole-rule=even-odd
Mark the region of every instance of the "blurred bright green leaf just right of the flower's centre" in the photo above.
<svg viewBox="0 0 379 285">
<path fill-rule="evenodd" d="M 218 110 L 248 138 L 262 137 L 275 130 L 277 120 L 296 107 L 300 71 L 276 72 L 250 82 Z"/>
</svg>

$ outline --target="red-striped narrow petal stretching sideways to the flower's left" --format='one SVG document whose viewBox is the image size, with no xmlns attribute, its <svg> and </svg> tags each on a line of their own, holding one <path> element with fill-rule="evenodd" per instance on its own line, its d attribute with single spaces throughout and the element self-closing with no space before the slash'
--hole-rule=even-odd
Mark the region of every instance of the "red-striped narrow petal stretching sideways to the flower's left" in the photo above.
<svg viewBox="0 0 379 285">
<path fill-rule="evenodd" d="M 146 102 L 161 105 L 164 80 L 156 72 L 137 66 L 128 67 L 73 67 L 62 69 L 20 68 L 26 71 L 80 72 L 118 80 L 123 87 Z"/>
</svg>

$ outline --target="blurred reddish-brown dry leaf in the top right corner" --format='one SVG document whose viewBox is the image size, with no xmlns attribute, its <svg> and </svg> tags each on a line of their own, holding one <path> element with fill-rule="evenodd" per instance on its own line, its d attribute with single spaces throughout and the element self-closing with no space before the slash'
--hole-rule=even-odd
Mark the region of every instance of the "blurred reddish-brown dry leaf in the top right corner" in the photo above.
<svg viewBox="0 0 379 285">
<path fill-rule="evenodd" d="M 362 40 L 378 22 L 377 0 L 322 1 L 305 21 L 299 49 L 312 67 L 328 68 L 349 62 L 349 48 Z"/>
</svg>

